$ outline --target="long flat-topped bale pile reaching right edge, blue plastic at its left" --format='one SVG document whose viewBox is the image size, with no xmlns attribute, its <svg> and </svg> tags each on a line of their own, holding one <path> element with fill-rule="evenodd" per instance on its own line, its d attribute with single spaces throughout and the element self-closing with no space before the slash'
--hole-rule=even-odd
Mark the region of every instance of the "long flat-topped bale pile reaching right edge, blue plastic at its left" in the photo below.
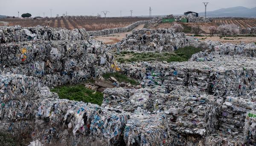
<svg viewBox="0 0 256 146">
<path fill-rule="evenodd" d="M 244 96 L 255 89 L 256 60 L 244 56 L 215 56 L 210 61 L 140 62 L 120 64 L 123 73 L 142 84 L 195 86 L 220 96 Z"/>
</svg>

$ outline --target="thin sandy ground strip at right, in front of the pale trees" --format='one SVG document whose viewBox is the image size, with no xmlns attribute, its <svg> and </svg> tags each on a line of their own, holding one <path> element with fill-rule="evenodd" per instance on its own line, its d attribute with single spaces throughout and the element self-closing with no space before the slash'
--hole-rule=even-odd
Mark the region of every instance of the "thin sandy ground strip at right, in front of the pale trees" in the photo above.
<svg viewBox="0 0 256 146">
<path fill-rule="evenodd" d="M 198 39 L 206 38 L 204 40 L 214 40 L 214 41 L 221 41 L 222 43 L 234 43 L 234 44 L 239 44 L 239 43 L 254 43 L 256 42 L 256 37 L 196 37 Z M 225 39 L 231 39 L 231 40 L 225 40 Z"/>
</svg>

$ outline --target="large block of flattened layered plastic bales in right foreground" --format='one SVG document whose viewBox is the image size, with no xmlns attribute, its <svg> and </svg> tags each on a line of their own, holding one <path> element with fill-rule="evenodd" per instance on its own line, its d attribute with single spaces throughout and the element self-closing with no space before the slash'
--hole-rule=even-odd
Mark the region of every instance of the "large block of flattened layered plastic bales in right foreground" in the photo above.
<svg viewBox="0 0 256 146">
<path fill-rule="evenodd" d="M 169 129 L 181 135 L 205 136 L 215 132 L 223 98 L 201 93 L 198 89 L 170 86 L 169 93 L 154 97 L 153 113 L 164 111 Z"/>
</svg>

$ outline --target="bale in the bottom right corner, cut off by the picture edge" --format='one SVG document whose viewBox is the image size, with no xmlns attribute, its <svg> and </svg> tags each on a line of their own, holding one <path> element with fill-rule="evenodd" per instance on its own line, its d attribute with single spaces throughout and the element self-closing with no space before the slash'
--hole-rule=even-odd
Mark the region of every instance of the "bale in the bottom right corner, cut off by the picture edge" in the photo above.
<svg viewBox="0 0 256 146">
<path fill-rule="evenodd" d="M 256 111 L 247 112 L 244 121 L 244 141 L 247 145 L 253 146 L 256 143 Z"/>
</svg>

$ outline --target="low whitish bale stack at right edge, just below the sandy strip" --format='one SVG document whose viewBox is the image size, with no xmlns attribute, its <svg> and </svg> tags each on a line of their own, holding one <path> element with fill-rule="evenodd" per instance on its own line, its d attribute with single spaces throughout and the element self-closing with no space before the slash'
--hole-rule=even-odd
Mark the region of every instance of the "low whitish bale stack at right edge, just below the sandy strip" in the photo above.
<svg viewBox="0 0 256 146">
<path fill-rule="evenodd" d="M 225 43 L 225 44 L 218 44 L 218 43 L 211 43 L 207 42 L 209 45 L 209 49 L 205 50 L 204 52 L 199 52 L 193 54 L 190 60 L 212 60 L 212 58 L 217 55 L 230 55 L 230 56 L 248 56 L 248 57 L 255 57 L 256 56 L 256 44 L 255 43 L 240 43 L 239 45 Z"/>
</svg>

